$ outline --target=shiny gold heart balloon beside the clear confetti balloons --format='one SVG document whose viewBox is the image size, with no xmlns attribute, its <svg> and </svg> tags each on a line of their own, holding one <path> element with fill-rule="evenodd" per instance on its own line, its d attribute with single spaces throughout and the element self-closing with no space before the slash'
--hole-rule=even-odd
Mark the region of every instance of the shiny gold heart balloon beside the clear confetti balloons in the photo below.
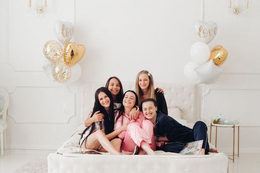
<svg viewBox="0 0 260 173">
<path fill-rule="evenodd" d="M 71 67 L 78 63 L 83 58 L 85 51 L 86 49 L 84 45 L 78 45 L 72 42 L 66 43 L 63 52 L 65 64 Z"/>
</svg>

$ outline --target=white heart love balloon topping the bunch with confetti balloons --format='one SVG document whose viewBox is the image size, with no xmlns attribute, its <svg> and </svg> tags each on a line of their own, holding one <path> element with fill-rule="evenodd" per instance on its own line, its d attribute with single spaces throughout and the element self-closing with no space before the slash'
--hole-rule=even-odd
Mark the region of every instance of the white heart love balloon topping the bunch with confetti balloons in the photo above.
<svg viewBox="0 0 260 173">
<path fill-rule="evenodd" d="M 74 28 L 72 23 L 68 21 L 63 22 L 61 20 L 57 20 L 54 23 L 53 30 L 58 41 L 63 44 L 68 43 L 71 40 L 74 33 Z"/>
</svg>

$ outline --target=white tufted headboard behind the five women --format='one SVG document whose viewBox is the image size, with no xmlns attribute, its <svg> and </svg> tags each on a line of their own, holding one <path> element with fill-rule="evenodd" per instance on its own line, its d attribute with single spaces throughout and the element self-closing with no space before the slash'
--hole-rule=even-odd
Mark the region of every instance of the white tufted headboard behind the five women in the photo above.
<svg viewBox="0 0 260 173">
<path fill-rule="evenodd" d="M 122 82 L 124 91 L 135 90 L 135 82 Z M 104 87 L 104 83 L 85 83 L 82 86 L 81 121 L 89 115 L 94 106 L 95 91 Z M 182 110 L 182 119 L 188 122 L 200 120 L 200 92 L 196 84 L 167 84 L 155 83 L 155 87 L 164 90 L 168 108 L 179 107 Z"/>
</svg>

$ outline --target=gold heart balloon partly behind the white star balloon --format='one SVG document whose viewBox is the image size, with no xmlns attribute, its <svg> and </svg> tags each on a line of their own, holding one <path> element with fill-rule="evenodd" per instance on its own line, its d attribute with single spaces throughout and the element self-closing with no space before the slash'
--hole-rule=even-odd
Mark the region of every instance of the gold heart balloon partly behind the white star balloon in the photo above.
<svg viewBox="0 0 260 173">
<path fill-rule="evenodd" d="M 210 50 L 210 56 L 208 61 L 214 61 L 214 64 L 217 66 L 221 66 L 227 59 L 227 50 L 221 45 L 216 45 Z"/>
</svg>

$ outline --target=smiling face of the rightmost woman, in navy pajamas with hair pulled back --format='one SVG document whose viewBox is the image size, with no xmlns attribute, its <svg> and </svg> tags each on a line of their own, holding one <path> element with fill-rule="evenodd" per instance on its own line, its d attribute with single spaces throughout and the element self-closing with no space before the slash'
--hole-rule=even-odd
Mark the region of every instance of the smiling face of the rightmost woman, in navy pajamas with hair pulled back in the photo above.
<svg viewBox="0 0 260 173">
<path fill-rule="evenodd" d="M 152 121 L 152 123 L 155 123 L 156 121 L 156 111 L 157 111 L 157 107 L 155 106 L 155 104 L 152 101 L 147 101 L 144 102 L 142 104 L 142 110 L 144 113 L 144 116 Z"/>
</svg>

